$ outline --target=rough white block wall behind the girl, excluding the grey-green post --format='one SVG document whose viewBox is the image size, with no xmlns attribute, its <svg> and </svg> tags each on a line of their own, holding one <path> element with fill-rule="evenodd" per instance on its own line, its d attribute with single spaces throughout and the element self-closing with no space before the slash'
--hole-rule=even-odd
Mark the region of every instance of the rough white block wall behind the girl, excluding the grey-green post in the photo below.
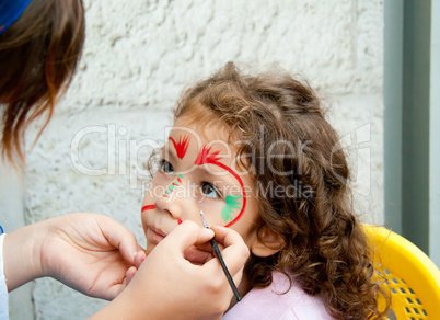
<svg viewBox="0 0 440 320">
<path fill-rule="evenodd" d="M 164 141 L 184 85 L 229 60 L 254 70 L 280 66 L 319 90 L 347 147 L 356 207 L 364 221 L 383 221 L 381 0 L 85 0 L 85 7 L 81 66 L 28 149 L 26 222 L 103 213 L 144 245 L 143 178 L 136 172 L 150 147 Z M 36 133 L 30 130 L 28 146 Z M 84 319 L 105 304 L 53 279 L 36 281 L 32 299 L 36 319 Z"/>
</svg>

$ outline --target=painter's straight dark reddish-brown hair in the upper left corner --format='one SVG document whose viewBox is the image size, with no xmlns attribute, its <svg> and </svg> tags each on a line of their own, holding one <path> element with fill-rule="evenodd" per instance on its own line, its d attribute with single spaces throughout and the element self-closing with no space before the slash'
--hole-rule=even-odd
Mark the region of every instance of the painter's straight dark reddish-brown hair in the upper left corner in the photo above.
<svg viewBox="0 0 440 320">
<path fill-rule="evenodd" d="M 46 115 L 69 85 L 84 44 L 82 0 L 33 0 L 20 19 L 0 34 L 2 156 L 24 162 L 28 124 Z"/>
</svg>

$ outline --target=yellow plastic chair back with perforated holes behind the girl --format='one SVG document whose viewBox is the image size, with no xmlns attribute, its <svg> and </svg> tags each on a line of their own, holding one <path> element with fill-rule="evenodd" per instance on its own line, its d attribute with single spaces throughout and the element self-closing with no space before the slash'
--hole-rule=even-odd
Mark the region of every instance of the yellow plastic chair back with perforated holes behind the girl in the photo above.
<svg viewBox="0 0 440 320">
<path fill-rule="evenodd" d="M 366 225 L 375 263 L 391 290 L 390 319 L 440 320 L 440 271 L 415 244 L 382 227 Z"/>
</svg>

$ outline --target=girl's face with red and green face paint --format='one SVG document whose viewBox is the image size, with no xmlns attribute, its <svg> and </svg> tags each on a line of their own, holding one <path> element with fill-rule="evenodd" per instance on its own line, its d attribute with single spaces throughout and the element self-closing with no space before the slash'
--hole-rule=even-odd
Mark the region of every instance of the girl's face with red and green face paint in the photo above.
<svg viewBox="0 0 440 320">
<path fill-rule="evenodd" d="M 239 165 L 228 130 L 202 127 L 180 117 L 160 153 L 159 168 L 142 204 L 147 254 L 184 220 L 238 231 L 248 247 L 258 215 L 254 183 Z"/>
</svg>

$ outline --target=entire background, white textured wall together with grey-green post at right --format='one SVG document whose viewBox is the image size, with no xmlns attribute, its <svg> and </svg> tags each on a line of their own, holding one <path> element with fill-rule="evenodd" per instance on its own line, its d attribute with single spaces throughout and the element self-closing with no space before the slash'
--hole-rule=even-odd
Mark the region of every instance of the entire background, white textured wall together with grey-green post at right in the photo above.
<svg viewBox="0 0 440 320">
<path fill-rule="evenodd" d="M 328 107 L 361 220 L 390 225 L 440 265 L 440 1 L 84 0 L 80 68 L 27 168 L 0 168 L 7 232 L 72 212 L 106 214 L 144 245 L 146 162 L 185 85 L 227 61 L 283 68 Z M 4 214 L 5 213 L 5 214 Z M 3 218 L 4 215 L 4 218 Z M 3 224 L 5 221 L 5 224 Z M 84 319 L 106 301 L 45 278 L 11 319 Z"/>
</svg>

